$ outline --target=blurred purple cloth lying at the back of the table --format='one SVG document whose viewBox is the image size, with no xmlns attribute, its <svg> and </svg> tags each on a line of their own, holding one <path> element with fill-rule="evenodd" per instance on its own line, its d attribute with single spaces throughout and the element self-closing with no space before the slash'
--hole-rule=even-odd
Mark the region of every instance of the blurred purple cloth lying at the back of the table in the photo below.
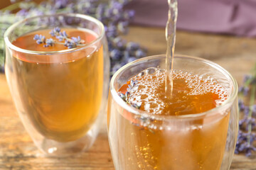
<svg viewBox="0 0 256 170">
<path fill-rule="evenodd" d="M 136 12 L 134 24 L 166 25 L 167 0 L 134 0 L 127 8 Z M 177 28 L 256 36 L 256 0 L 178 0 Z"/>
</svg>

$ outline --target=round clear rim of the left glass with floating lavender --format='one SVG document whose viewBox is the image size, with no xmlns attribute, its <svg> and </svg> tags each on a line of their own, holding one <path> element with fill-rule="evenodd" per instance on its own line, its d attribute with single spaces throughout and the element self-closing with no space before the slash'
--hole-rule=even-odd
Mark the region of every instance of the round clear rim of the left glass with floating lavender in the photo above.
<svg viewBox="0 0 256 170">
<path fill-rule="evenodd" d="M 12 42 L 9 40 L 10 33 L 12 33 L 14 31 L 14 29 L 17 28 L 18 26 L 20 26 L 22 23 L 26 23 L 28 21 L 31 21 L 31 20 L 35 19 L 35 18 L 45 18 L 45 17 L 54 17 L 54 16 L 70 16 L 70 17 L 74 17 L 74 18 L 82 18 L 82 19 L 91 21 L 93 23 L 96 23 L 97 26 L 99 26 L 99 28 L 101 28 L 100 35 L 95 40 L 93 40 L 92 42 L 89 42 L 85 45 L 78 46 L 78 47 L 75 47 L 75 48 L 70 48 L 70 49 L 67 49 L 67 50 L 50 51 L 50 52 L 26 50 L 26 49 L 23 49 L 21 47 L 17 47 L 16 45 L 13 45 Z M 56 54 L 58 54 L 58 55 L 60 55 L 60 54 L 64 54 L 64 53 L 67 53 L 67 52 L 75 52 L 75 51 L 78 51 L 78 50 L 82 50 L 86 47 L 90 47 L 90 45 L 94 44 L 95 42 L 100 41 L 104 36 L 105 36 L 105 28 L 104 28 L 103 23 L 101 21 L 97 20 L 96 18 L 93 18 L 92 16 L 87 16 L 87 15 L 81 14 L 81 13 L 56 13 L 56 14 L 53 14 L 53 15 L 32 16 L 32 17 L 29 17 L 29 18 L 25 18 L 21 21 L 17 21 L 16 23 L 9 26 L 9 28 L 7 28 L 7 30 L 5 31 L 5 33 L 4 33 L 4 42 L 12 50 L 15 50 L 15 51 L 18 51 L 18 52 L 23 52 L 23 53 L 26 53 L 26 54 L 32 54 L 32 55 L 56 55 Z"/>
</svg>

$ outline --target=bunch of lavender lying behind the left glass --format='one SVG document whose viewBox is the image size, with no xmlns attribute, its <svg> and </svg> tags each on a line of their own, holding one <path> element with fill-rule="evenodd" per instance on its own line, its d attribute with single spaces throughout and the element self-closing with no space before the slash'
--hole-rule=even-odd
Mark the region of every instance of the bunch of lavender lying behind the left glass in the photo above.
<svg viewBox="0 0 256 170">
<path fill-rule="evenodd" d="M 44 14 L 82 13 L 95 17 L 104 24 L 110 50 L 110 72 L 113 74 L 127 62 L 146 55 L 139 44 L 126 42 L 122 38 L 134 17 L 134 11 L 124 9 L 124 5 L 129 1 L 132 0 L 46 0 L 41 4 L 27 0 L 16 1 L 11 6 L 0 10 L 0 67 L 2 68 L 4 64 L 4 31 L 12 23 Z M 11 13 L 17 8 L 20 9 L 17 13 Z"/>
</svg>

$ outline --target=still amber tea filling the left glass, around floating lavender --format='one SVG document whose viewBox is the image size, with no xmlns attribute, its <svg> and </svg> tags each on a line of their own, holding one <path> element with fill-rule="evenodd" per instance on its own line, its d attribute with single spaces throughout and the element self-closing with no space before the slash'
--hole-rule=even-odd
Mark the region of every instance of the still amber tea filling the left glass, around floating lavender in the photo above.
<svg viewBox="0 0 256 170">
<path fill-rule="evenodd" d="M 69 36 L 80 36 L 85 44 L 97 38 L 90 30 L 62 30 Z M 42 52 L 68 49 L 63 44 L 43 47 L 43 44 L 38 45 L 33 40 L 36 34 L 52 38 L 49 32 L 37 30 L 12 43 L 22 49 Z M 100 43 L 61 56 L 13 53 L 13 69 L 23 114 L 28 116 L 41 135 L 68 142 L 82 137 L 91 128 L 102 100 L 102 55 Z"/>
</svg>

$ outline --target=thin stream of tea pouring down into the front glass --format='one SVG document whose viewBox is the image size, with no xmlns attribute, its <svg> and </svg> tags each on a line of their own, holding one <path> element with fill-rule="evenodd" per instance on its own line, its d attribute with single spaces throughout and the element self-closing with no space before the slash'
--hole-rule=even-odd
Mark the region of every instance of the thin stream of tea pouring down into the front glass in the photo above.
<svg viewBox="0 0 256 170">
<path fill-rule="evenodd" d="M 174 66 L 174 47 L 176 40 L 176 22 L 178 16 L 178 3 L 177 0 L 168 0 L 169 4 L 169 13 L 168 21 L 166 23 L 166 80 L 165 80 L 165 90 L 166 97 L 171 96 L 173 91 L 173 78 L 172 78 L 172 69 Z"/>
</svg>

